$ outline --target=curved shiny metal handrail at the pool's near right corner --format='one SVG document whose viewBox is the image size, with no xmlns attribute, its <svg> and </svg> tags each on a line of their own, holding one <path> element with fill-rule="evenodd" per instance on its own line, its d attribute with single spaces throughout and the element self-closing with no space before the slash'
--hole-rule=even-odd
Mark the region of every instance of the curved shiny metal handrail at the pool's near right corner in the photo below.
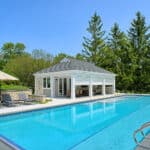
<svg viewBox="0 0 150 150">
<path fill-rule="evenodd" d="M 146 135 L 144 134 L 143 129 L 148 128 L 148 127 L 150 127 L 150 122 L 144 123 L 139 129 L 135 130 L 134 133 L 133 133 L 133 138 L 134 138 L 135 143 L 136 143 L 137 145 L 139 145 L 139 146 L 141 146 L 141 147 L 145 147 L 145 148 L 148 148 L 148 147 L 146 147 L 146 146 L 140 144 L 140 142 L 139 142 L 139 141 L 137 140 L 137 138 L 136 138 L 136 135 L 137 135 L 137 133 L 140 132 L 141 135 L 143 136 L 143 139 L 144 139 Z"/>
</svg>

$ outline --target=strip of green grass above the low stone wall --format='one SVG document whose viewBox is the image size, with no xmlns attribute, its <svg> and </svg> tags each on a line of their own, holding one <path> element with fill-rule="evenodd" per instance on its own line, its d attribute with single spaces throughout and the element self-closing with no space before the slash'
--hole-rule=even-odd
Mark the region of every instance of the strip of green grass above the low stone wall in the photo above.
<svg viewBox="0 0 150 150">
<path fill-rule="evenodd" d="M 22 85 L 7 85 L 7 84 L 3 84 L 1 85 L 1 89 L 6 91 L 6 90 L 16 90 L 16 91 L 23 91 L 23 90 L 28 90 L 29 88 L 26 86 L 22 86 Z"/>
</svg>

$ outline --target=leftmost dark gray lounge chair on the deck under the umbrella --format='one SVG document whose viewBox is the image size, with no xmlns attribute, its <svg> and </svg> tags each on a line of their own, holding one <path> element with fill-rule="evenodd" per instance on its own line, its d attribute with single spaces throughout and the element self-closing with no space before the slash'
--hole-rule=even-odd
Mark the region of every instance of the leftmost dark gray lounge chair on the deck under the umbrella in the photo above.
<svg viewBox="0 0 150 150">
<path fill-rule="evenodd" d="M 16 106 L 17 104 L 19 104 L 19 101 L 12 100 L 12 98 L 11 98 L 11 96 L 9 94 L 2 94 L 2 101 L 1 101 L 1 103 L 4 106 L 12 107 L 12 106 Z"/>
</svg>

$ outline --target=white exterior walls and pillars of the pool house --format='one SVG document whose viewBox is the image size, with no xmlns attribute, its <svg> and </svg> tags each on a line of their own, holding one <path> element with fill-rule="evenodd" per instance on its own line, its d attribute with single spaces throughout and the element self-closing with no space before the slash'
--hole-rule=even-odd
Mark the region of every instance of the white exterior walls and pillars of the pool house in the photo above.
<svg viewBox="0 0 150 150">
<path fill-rule="evenodd" d="M 51 88 L 43 88 L 43 78 L 51 78 Z M 112 93 L 115 92 L 115 75 L 103 74 L 88 71 L 69 70 L 63 72 L 52 72 L 35 74 L 35 94 L 46 95 L 48 97 L 55 97 L 57 89 L 55 87 L 55 78 L 71 78 L 71 98 L 75 97 L 75 86 L 76 85 L 88 85 L 89 95 L 92 96 L 93 85 L 102 85 L 102 94 L 105 95 L 105 86 L 112 85 Z M 72 91 L 74 91 L 72 93 Z"/>
</svg>

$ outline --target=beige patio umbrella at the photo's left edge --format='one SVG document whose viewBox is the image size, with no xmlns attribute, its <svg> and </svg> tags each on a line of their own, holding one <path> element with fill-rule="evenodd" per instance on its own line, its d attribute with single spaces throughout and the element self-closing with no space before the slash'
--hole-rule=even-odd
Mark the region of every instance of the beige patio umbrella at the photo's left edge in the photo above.
<svg viewBox="0 0 150 150">
<path fill-rule="evenodd" d="M 1 100 L 1 81 L 6 80 L 18 80 L 18 79 L 5 72 L 0 71 L 0 100 Z"/>
</svg>

